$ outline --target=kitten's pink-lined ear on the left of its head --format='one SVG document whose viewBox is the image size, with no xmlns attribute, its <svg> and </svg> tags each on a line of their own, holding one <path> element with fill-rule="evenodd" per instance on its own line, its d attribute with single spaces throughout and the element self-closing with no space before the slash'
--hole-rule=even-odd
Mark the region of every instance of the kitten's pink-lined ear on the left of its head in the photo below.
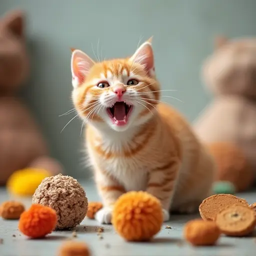
<svg viewBox="0 0 256 256">
<path fill-rule="evenodd" d="M 72 50 L 71 72 L 73 87 L 77 87 L 85 81 L 89 69 L 93 65 L 94 61 L 83 51 L 78 49 Z"/>
</svg>

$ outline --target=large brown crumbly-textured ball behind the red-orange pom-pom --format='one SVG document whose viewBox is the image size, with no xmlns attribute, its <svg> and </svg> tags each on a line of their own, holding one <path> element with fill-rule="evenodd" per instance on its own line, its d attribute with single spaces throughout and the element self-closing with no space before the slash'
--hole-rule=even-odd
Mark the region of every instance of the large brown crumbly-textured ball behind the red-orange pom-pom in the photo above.
<svg viewBox="0 0 256 256">
<path fill-rule="evenodd" d="M 33 194 L 32 203 L 40 203 L 56 211 L 58 220 L 55 229 L 78 225 L 88 207 L 81 185 L 76 179 L 62 174 L 44 178 Z"/>
</svg>

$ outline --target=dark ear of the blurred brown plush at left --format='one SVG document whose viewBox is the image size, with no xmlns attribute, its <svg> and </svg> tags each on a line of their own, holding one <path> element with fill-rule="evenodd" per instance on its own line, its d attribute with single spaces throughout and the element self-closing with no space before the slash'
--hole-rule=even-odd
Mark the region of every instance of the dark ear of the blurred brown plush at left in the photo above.
<svg viewBox="0 0 256 256">
<path fill-rule="evenodd" d="M 7 13 L 6 16 L 3 17 L 3 22 L 5 27 L 14 35 L 18 37 L 23 36 L 24 13 L 22 11 L 16 10 Z"/>
</svg>

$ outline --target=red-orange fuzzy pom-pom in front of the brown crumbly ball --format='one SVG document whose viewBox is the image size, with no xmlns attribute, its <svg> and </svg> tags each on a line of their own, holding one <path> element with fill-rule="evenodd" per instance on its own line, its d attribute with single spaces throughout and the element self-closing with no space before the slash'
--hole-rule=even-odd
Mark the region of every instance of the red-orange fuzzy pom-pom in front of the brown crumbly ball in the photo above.
<svg viewBox="0 0 256 256">
<path fill-rule="evenodd" d="M 18 229 L 25 235 L 37 238 L 50 233 L 56 226 L 55 210 L 42 204 L 32 204 L 20 215 Z"/>
</svg>

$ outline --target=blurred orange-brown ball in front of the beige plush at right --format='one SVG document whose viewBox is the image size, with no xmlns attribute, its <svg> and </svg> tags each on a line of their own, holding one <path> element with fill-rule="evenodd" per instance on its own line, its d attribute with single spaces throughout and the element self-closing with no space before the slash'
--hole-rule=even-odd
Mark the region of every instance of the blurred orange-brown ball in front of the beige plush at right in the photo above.
<svg viewBox="0 0 256 256">
<path fill-rule="evenodd" d="M 252 169 L 244 153 L 234 144 L 215 142 L 208 145 L 217 164 L 216 180 L 229 181 L 236 191 L 243 191 L 252 185 Z"/>
</svg>

